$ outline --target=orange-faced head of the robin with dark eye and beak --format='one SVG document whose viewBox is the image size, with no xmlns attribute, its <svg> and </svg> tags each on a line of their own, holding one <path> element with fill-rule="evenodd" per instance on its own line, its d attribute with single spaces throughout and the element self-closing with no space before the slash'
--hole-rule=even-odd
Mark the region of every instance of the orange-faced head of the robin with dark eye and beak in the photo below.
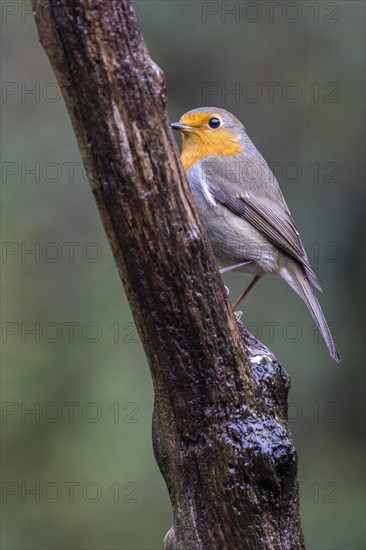
<svg viewBox="0 0 366 550">
<path fill-rule="evenodd" d="M 199 107 L 171 124 L 181 132 L 182 162 L 188 170 L 195 162 L 212 155 L 237 155 L 244 150 L 245 128 L 231 113 L 215 107 Z"/>
</svg>

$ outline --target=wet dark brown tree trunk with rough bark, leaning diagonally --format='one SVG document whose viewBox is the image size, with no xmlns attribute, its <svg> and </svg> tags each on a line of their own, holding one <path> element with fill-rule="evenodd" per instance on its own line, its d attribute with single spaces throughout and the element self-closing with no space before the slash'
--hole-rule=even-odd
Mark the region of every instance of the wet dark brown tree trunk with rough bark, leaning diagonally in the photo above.
<svg viewBox="0 0 366 550">
<path fill-rule="evenodd" d="M 133 8 L 33 4 L 151 369 L 164 547 L 303 548 L 289 378 L 233 315 Z"/>
</svg>

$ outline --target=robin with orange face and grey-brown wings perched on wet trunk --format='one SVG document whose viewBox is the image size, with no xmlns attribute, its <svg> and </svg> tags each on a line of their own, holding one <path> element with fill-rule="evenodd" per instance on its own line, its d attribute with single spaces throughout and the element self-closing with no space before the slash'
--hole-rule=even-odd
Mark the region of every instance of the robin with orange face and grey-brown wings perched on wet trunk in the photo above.
<svg viewBox="0 0 366 550">
<path fill-rule="evenodd" d="M 305 302 L 329 353 L 340 357 L 313 287 L 310 265 L 278 181 L 232 113 L 199 107 L 171 127 L 182 135 L 181 161 L 220 273 L 253 276 L 234 310 L 265 274 L 277 274 Z"/>
</svg>

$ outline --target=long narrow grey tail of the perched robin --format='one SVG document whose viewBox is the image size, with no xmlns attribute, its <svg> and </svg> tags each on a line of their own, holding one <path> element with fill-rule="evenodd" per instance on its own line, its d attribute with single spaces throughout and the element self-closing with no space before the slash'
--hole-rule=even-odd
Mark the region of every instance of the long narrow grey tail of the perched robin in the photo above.
<svg viewBox="0 0 366 550">
<path fill-rule="evenodd" d="M 308 278 L 304 273 L 302 267 L 296 266 L 296 269 L 291 269 L 291 272 L 287 269 L 281 270 L 281 276 L 285 281 L 293 288 L 293 290 L 302 298 L 311 313 L 315 323 L 317 324 L 324 341 L 327 345 L 330 355 L 339 363 L 340 357 L 333 337 L 330 333 L 328 324 L 325 320 L 324 314 L 320 307 L 320 304 L 310 286 Z"/>
</svg>

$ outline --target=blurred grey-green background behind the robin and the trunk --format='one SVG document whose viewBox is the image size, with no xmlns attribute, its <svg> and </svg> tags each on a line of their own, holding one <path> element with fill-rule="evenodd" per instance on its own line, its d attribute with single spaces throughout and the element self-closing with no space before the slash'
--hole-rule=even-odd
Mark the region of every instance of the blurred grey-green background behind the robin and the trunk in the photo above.
<svg viewBox="0 0 366 550">
<path fill-rule="evenodd" d="M 365 4 L 136 9 L 171 119 L 211 104 L 244 122 L 324 280 L 340 365 L 276 278 L 244 321 L 292 378 L 307 548 L 361 550 Z M 3 1 L 1 18 L 1 548 L 158 549 L 172 517 L 147 363 L 30 5 Z M 233 298 L 247 282 L 225 281 Z"/>
</svg>

